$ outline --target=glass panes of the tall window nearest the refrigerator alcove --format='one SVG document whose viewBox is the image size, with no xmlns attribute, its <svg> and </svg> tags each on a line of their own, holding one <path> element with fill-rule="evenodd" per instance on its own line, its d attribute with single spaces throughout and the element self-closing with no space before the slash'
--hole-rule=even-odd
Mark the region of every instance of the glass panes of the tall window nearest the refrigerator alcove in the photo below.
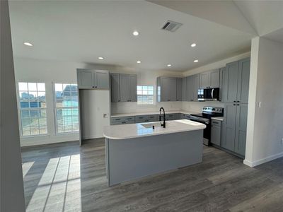
<svg viewBox="0 0 283 212">
<path fill-rule="evenodd" d="M 76 84 L 54 84 L 58 134 L 79 131 L 78 89 Z"/>
</svg>

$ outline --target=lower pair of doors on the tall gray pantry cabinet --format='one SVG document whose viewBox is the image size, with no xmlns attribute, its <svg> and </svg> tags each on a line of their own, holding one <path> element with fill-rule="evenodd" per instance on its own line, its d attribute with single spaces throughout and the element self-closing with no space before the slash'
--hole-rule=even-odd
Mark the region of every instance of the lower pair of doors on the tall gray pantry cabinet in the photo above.
<svg viewBox="0 0 283 212">
<path fill-rule="evenodd" d="M 226 103 L 222 124 L 221 147 L 245 155 L 248 104 Z"/>
</svg>

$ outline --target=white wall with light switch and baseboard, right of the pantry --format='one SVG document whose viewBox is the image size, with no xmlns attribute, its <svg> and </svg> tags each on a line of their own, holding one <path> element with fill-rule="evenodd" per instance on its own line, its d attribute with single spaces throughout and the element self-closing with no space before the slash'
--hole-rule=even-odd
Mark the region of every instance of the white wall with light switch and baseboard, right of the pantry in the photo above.
<svg viewBox="0 0 283 212">
<path fill-rule="evenodd" d="M 257 53 L 258 51 L 258 53 Z M 252 42 L 246 159 L 250 166 L 283 156 L 283 44 L 256 37 Z M 261 102 L 261 107 L 258 106 Z"/>
</svg>

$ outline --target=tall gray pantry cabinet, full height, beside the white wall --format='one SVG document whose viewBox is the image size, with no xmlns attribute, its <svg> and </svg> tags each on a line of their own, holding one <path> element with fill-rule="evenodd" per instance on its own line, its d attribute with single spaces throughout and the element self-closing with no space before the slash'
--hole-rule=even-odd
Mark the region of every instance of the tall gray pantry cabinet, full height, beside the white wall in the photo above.
<svg viewBox="0 0 283 212">
<path fill-rule="evenodd" d="M 245 155 L 248 117 L 248 82 L 250 58 L 226 65 L 223 71 L 223 95 L 225 102 L 221 133 L 221 147 Z"/>
</svg>

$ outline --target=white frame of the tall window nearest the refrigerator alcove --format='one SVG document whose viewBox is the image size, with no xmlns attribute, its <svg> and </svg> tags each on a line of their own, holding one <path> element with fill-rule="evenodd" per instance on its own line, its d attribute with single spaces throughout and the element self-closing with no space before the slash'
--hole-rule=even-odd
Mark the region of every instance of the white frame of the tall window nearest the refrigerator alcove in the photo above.
<svg viewBox="0 0 283 212">
<path fill-rule="evenodd" d="M 68 85 L 76 85 L 77 90 L 76 92 L 78 93 L 78 107 L 57 107 L 57 100 L 56 100 L 56 89 L 55 89 L 55 84 L 68 84 Z M 57 135 L 64 135 L 64 134 L 78 134 L 80 127 L 77 131 L 64 131 L 64 132 L 58 132 L 58 126 L 57 126 L 57 109 L 78 109 L 79 113 L 79 87 L 77 83 L 62 83 L 62 82 L 52 82 L 52 98 L 53 98 L 53 111 L 54 111 L 54 126 L 55 126 L 55 134 Z M 78 119 L 79 119 L 79 114 L 78 114 Z"/>
</svg>

